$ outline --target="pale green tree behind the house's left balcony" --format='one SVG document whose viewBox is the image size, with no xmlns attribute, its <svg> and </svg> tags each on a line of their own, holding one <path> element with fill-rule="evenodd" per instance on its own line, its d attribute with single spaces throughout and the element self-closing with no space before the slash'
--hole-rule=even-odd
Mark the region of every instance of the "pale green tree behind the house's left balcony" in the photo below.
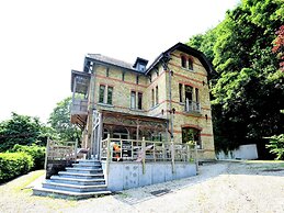
<svg viewBox="0 0 284 213">
<path fill-rule="evenodd" d="M 70 107 L 71 98 L 66 98 L 58 102 L 49 116 L 48 123 L 58 133 L 61 141 L 79 141 L 80 130 L 70 123 Z"/>
</svg>

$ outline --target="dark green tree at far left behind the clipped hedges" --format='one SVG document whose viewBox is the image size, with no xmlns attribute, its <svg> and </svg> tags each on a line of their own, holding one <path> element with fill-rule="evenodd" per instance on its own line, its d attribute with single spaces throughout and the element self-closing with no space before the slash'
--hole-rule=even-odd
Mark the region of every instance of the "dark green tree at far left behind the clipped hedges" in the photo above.
<svg viewBox="0 0 284 213">
<path fill-rule="evenodd" d="M 0 123 L 0 152 L 19 145 L 45 145 L 46 138 L 42 134 L 42 124 L 38 117 L 20 115 L 12 112 L 10 120 Z"/>
</svg>

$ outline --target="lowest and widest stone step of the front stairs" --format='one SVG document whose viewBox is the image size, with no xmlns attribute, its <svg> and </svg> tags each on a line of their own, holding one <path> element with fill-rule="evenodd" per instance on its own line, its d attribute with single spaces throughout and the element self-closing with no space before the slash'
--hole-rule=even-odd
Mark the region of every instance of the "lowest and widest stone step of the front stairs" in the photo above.
<svg viewBox="0 0 284 213">
<path fill-rule="evenodd" d="M 109 190 L 105 191 L 95 191 L 95 192 L 71 192 L 71 191 L 63 191 L 63 190 L 55 190 L 55 189 L 46 189 L 46 188 L 34 188 L 33 194 L 34 195 L 43 195 L 43 197 L 53 197 L 53 198 L 75 198 L 75 199 L 88 199 L 88 198 L 95 198 L 105 194 L 111 194 L 112 192 Z"/>
</svg>

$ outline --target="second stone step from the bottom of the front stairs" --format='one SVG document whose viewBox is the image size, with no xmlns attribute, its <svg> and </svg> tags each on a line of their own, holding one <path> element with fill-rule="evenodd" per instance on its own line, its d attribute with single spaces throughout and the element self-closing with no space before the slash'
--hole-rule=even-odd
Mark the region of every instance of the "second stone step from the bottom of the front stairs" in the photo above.
<svg viewBox="0 0 284 213">
<path fill-rule="evenodd" d="M 106 184 L 78 186 L 78 184 L 67 184 L 67 183 L 58 183 L 58 182 L 43 182 L 43 188 L 63 190 L 63 191 L 72 191 L 72 192 L 107 191 Z"/>
</svg>

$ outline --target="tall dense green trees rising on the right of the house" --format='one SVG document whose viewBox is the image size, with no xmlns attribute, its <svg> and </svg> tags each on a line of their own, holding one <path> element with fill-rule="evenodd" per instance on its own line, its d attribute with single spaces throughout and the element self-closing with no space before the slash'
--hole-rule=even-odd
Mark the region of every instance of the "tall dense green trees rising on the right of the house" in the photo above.
<svg viewBox="0 0 284 213">
<path fill-rule="evenodd" d="M 284 75 L 271 51 L 283 13 L 281 0 L 242 0 L 216 27 L 188 43 L 204 52 L 218 74 L 209 82 L 217 149 L 262 145 L 263 137 L 284 131 Z"/>
</svg>

